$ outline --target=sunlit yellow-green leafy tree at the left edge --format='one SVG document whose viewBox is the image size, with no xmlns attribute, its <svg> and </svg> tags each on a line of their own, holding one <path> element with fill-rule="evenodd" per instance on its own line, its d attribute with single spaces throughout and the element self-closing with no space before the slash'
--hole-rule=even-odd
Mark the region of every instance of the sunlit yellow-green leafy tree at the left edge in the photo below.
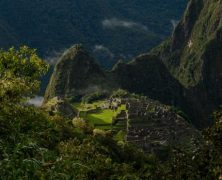
<svg viewBox="0 0 222 180">
<path fill-rule="evenodd" d="M 27 46 L 0 50 L 1 105 L 18 104 L 37 93 L 48 65 Z M 1 108 L 0 105 L 0 108 Z"/>
</svg>

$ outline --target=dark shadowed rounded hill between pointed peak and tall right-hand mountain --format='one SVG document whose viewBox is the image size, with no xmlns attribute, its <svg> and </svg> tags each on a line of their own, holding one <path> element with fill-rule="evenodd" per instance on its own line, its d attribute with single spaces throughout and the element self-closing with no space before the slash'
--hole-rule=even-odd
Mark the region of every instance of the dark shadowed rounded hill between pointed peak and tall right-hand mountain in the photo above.
<svg viewBox="0 0 222 180">
<path fill-rule="evenodd" d="M 121 88 L 132 93 L 144 94 L 166 104 L 182 101 L 182 86 L 156 55 L 144 54 L 128 64 L 119 64 L 112 74 Z"/>
</svg>

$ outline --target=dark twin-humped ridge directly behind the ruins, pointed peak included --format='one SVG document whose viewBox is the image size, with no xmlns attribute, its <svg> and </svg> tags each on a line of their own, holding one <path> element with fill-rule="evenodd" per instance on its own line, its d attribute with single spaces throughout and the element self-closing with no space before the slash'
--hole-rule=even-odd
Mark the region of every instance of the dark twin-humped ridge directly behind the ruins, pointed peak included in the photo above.
<svg viewBox="0 0 222 180">
<path fill-rule="evenodd" d="M 104 71 L 89 52 L 77 44 L 66 50 L 55 65 L 45 101 L 55 96 L 74 98 L 98 91 L 111 93 L 116 88 L 165 103 L 171 103 L 175 97 L 181 100 L 183 90 L 154 55 L 140 55 L 127 64 L 120 61 L 111 71 Z"/>
</svg>

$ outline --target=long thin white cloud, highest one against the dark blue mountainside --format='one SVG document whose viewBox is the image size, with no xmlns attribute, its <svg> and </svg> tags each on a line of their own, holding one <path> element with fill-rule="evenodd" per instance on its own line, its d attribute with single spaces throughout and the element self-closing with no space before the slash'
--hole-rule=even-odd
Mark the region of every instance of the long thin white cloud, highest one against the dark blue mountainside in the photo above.
<svg viewBox="0 0 222 180">
<path fill-rule="evenodd" d="M 117 18 L 105 19 L 102 21 L 102 25 L 104 28 L 108 29 L 116 29 L 116 28 L 127 28 L 127 29 L 140 29 L 143 31 L 148 31 L 147 26 L 134 22 L 134 21 L 124 21 Z"/>
</svg>

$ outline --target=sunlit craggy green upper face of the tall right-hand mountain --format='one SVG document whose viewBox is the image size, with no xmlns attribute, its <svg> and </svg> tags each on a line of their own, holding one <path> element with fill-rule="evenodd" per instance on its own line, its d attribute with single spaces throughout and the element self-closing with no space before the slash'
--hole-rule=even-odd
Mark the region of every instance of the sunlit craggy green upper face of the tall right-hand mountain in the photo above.
<svg viewBox="0 0 222 180">
<path fill-rule="evenodd" d="M 171 53 L 180 53 L 177 58 L 169 58 L 166 64 L 185 87 L 195 86 L 203 80 L 202 70 L 208 68 L 206 64 L 210 61 L 206 57 L 207 51 L 213 45 L 212 41 L 220 40 L 217 34 L 222 28 L 221 14 L 221 1 L 190 1 L 174 32 Z"/>
</svg>

